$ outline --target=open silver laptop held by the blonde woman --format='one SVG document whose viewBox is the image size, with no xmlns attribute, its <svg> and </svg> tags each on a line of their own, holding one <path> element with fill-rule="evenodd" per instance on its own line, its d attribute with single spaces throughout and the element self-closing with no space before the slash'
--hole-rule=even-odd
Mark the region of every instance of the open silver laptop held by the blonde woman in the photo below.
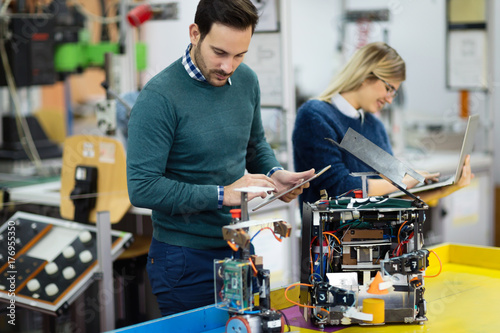
<svg viewBox="0 0 500 333">
<path fill-rule="evenodd" d="M 467 121 L 467 128 L 465 129 L 464 140 L 462 142 L 462 149 L 460 151 L 460 158 L 458 160 L 457 169 L 455 170 L 454 175 L 440 177 L 439 181 L 437 182 L 417 185 L 411 189 L 407 189 L 406 191 L 410 193 L 418 193 L 418 192 L 432 190 L 435 188 L 440 188 L 443 186 L 452 185 L 458 182 L 458 180 L 462 176 L 462 169 L 465 163 L 465 158 L 467 157 L 467 155 L 472 153 L 472 148 L 474 146 L 474 139 L 476 137 L 478 125 L 479 125 L 479 115 L 475 114 L 470 116 L 469 120 Z M 402 195 L 405 195 L 405 193 L 402 191 L 397 191 L 389 194 L 389 197 L 398 197 Z"/>
</svg>

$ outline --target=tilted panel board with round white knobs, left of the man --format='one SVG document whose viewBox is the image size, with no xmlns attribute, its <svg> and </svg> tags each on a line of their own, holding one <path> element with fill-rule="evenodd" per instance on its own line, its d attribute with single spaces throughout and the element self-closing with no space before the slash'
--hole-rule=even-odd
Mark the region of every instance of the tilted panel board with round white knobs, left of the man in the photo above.
<svg viewBox="0 0 500 333">
<path fill-rule="evenodd" d="M 15 253 L 7 246 L 11 238 Z M 132 234 L 111 231 L 111 239 L 116 258 Z M 0 226 L 0 257 L 5 258 L 0 261 L 0 301 L 11 302 L 9 278 L 15 274 L 16 306 L 62 314 L 95 278 L 96 240 L 94 226 L 17 212 Z"/>
</svg>

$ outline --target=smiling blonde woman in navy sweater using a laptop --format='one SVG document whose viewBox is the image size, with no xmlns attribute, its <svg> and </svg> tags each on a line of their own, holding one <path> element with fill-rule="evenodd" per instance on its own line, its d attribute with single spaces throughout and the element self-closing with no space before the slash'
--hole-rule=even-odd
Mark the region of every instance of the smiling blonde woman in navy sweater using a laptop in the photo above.
<svg viewBox="0 0 500 333">
<path fill-rule="evenodd" d="M 399 54 L 385 43 L 371 43 L 356 51 L 319 97 L 305 102 L 299 108 L 292 135 L 295 169 L 321 170 L 326 165 L 332 165 L 321 181 L 312 182 L 309 189 L 304 190 L 301 201 L 317 201 L 321 189 L 326 189 L 330 197 L 361 189 L 361 178 L 350 176 L 350 173 L 373 171 L 325 138 L 340 142 L 351 127 L 392 154 L 389 137 L 376 113 L 386 103 L 392 103 L 405 78 L 406 66 Z M 438 175 L 422 174 L 426 179 Z M 430 201 L 446 196 L 468 185 L 473 176 L 470 157 L 467 157 L 462 178 L 456 185 L 428 191 L 420 194 L 420 197 Z M 408 188 L 417 184 L 410 176 L 405 177 L 403 182 Z M 369 196 L 385 195 L 395 190 L 384 179 L 368 180 Z"/>
</svg>

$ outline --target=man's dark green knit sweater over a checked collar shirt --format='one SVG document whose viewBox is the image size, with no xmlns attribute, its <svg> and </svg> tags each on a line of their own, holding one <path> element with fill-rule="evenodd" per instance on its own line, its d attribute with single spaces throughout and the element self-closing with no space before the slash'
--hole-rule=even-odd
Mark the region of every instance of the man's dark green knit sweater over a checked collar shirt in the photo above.
<svg viewBox="0 0 500 333">
<path fill-rule="evenodd" d="M 217 185 L 279 166 L 265 141 L 260 89 L 241 64 L 232 85 L 192 79 L 172 63 L 141 91 L 131 113 L 127 184 L 131 203 L 152 209 L 153 237 L 198 249 L 225 246 Z"/>
</svg>

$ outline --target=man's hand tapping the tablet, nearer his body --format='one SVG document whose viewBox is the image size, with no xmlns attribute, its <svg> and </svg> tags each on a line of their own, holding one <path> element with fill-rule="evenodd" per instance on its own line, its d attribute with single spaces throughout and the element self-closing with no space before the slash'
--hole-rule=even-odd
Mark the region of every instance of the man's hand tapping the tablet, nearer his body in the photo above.
<svg viewBox="0 0 500 333">
<path fill-rule="evenodd" d="M 275 172 L 276 173 L 276 172 Z M 224 199 L 222 204 L 224 206 L 239 206 L 241 205 L 241 192 L 235 191 L 234 189 L 248 187 L 248 186 L 261 186 L 261 187 L 271 187 L 277 189 L 275 182 L 261 174 L 246 174 L 231 185 L 224 186 Z M 265 198 L 266 192 L 251 193 L 248 192 L 248 201 L 256 197 Z"/>
</svg>

